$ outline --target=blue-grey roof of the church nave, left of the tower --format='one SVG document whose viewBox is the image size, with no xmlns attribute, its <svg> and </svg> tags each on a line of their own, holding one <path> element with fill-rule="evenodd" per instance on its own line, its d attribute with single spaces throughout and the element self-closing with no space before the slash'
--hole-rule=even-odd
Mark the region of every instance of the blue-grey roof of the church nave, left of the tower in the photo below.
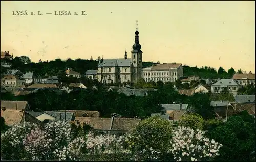
<svg viewBox="0 0 256 162">
<path fill-rule="evenodd" d="M 132 62 L 130 58 L 103 59 L 103 61 L 98 64 L 98 67 L 126 67 L 131 66 L 131 64 Z"/>
</svg>

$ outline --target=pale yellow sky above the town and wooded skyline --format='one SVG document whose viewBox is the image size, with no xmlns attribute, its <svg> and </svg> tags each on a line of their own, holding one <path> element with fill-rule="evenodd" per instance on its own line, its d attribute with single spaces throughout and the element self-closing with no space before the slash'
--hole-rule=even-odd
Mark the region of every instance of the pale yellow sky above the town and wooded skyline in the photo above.
<svg viewBox="0 0 256 162">
<path fill-rule="evenodd" d="M 1 1 L 1 51 L 33 62 L 131 57 L 136 20 L 143 61 L 255 73 L 254 1 Z"/>
</svg>

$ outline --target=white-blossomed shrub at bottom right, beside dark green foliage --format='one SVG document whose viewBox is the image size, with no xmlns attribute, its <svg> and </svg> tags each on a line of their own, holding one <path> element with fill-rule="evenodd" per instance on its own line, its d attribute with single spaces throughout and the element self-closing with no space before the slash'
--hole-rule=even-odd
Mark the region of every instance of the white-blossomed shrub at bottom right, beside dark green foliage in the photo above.
<svg viewBox="0 0 256 162">
<path fill-rule="evenodd" d="M 219 155 L 221 144 L 204 136 L 205 132 L 189 127 L 178 127 L 170 140 L 170 152 L 177 161 L 209 161 Z"/>
</svg>

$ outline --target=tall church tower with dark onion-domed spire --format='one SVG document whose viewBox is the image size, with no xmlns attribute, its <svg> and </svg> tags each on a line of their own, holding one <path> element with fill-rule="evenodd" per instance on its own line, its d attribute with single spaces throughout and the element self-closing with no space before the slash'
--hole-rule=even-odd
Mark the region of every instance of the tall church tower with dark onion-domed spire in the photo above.
<svg viewBox="0 0 256 162">
<path fill-rule="evenodd" d="M 131 51 L 131 61 L 133 66 L 131 67 L 132 83 L 137 83 L 139 79 L 142 79 L 142 51 L 139 43 L 139 31 L 138 21 L 136 21 L 135 43 L 133 45 L 133 51 Z"/>
</svg>

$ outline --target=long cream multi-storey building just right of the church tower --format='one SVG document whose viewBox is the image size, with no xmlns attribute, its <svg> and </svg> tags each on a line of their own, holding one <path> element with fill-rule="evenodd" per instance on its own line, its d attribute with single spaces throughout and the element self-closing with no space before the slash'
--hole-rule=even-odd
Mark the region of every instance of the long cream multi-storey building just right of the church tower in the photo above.
<svg viewBox="0 0 256 162">
<path fill-rule="evenodd" d="M 182 64 L 177 63 L 155 64 L 143 69 L 143 79 L 146 82 L 175 82 L 175 80 L 178 80 L 182 76 Z"/>
</svg>

